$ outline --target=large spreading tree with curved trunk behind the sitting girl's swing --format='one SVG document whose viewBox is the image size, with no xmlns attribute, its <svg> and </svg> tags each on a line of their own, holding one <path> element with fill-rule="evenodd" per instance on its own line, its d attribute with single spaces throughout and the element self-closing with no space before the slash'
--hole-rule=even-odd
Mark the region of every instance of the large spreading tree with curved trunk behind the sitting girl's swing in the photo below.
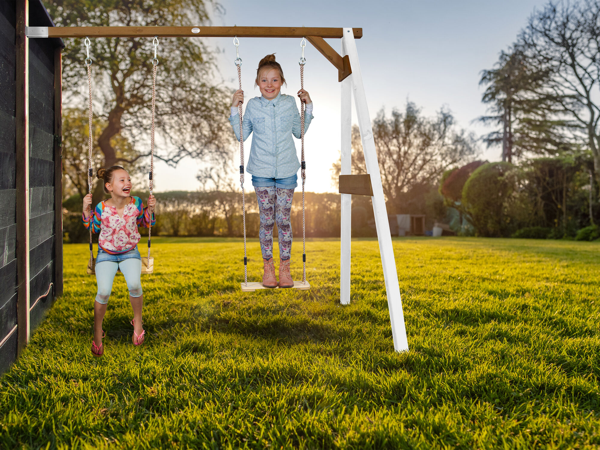
<svg viewBox="0 0 600 450">
<path fill-rule="evenodd" d="M 52 0 L 46 2 L 57 26 L 176 26 L 209 20 L 203 0 Z M 113 146 L 121 134 L 149 154 L 152 58 L 149 38 L 92 38 L 95 113 L 104 119 L 97 137 L 104 165 L 133 163 Z M 87 92 L 83 40 L 65 39 L 63 89 L 75 103 Z M 199 40 L 160 38 L 156 80 L 156 130 L 166 145 L 157 157 L 172 164 L 182 158 L 228 157 L 227 91 L 211 84 L 214 59 Z M 86 95 L 84 95 L 86 97 Z M 82 104 L 85 100 L 81 99 Z M 219 158 L 217 158 L 219 159 Z"/>
</svg>

